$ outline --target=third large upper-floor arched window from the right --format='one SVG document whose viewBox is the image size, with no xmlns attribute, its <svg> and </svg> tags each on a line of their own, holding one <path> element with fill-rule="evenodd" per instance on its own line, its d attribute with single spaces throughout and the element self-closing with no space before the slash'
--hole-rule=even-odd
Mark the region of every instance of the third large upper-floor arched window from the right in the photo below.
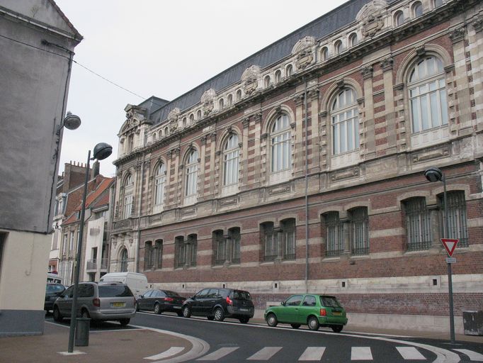
<svg viewBox="0 0 483 363">
<path fill-rule="evenodd" d="M 291 128 L 288 116 L 283 113 L 271 127 L 271 171 L 280 172 L 292 166 Z"/>
</svg>

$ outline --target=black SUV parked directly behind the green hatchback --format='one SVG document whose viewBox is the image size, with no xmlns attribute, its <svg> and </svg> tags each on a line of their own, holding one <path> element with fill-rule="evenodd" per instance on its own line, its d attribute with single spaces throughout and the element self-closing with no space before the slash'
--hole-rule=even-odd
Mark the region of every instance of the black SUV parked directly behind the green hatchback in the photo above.
<svg viewBox="0 0 483 363">
<path fill-rule="evenodd" d="M 248 291 L 212 288 L 198 291 L 186 299 L 181 311 L 185 318 L 200 315 L 208 320 L 235 318 L 240 323 L 248 323 L 254 317 L 255 307 Z"/>
</svg>

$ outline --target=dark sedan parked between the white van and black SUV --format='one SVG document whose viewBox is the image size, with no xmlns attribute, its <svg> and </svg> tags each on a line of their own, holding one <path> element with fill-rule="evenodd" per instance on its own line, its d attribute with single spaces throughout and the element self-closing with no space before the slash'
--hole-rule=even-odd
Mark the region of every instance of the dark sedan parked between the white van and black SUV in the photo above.
<svg viewBox="0 0 483 363">
<path fill-rule="evenodd" d="M 186 298 L 174 291 L 154 289 L 140 295 L 137 299 L 137 308 L 138 310 L 154 311 L 155 314 L 171 311 L 182 316 L 181 306 L 185 300 Z"/>
</svg>

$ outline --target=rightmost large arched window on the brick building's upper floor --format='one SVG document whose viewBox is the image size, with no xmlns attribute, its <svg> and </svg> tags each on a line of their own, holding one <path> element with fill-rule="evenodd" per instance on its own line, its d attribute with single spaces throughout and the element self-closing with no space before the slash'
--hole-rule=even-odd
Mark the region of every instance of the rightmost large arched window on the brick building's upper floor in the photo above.
<svg viewBox="0 0 483 363">
<path fill-rule="evenodd" d="M 448 124 L 441 60 L 432 56 L 420 60 L 409 72 L 408 89 L 413 133 Z"/>
</svg>

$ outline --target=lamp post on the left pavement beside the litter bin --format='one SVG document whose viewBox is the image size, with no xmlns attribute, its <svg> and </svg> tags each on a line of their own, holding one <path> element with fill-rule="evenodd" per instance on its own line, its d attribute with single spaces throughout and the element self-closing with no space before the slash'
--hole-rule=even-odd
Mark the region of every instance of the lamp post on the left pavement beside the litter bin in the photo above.
<svg viewBox="0 0 483 363">
<path fill-rule="evenodd" d="M 91 159 L 91 150 L 87 153 L 87 166 L 86 166 L 86 180 L 84 182 L 84 196 L 82 198 L 81 207 L 81 225 L 79 226 L 79 241 L 77 242 L 77 254 L 76 263 L 74 269 L 74 295 L 72 296 L 72 310 L 70 315 L 70 328 L 69 328 L 69 353 L 74 351 L 74 335 L 76 330 L 76 318 L 77 318 L 77 292 L 79 289 L 79 272 L 81 268 L 81 254 L 82 254 L 82 240 L 84 237 L 84 216 L 86 214 L 86 198 L 87 198 L 87 184 L 89 182 L 89 163 L 91 160 L 104 160 L 113 152 L 113 147 L 106 143 L 98 143 L 94 147 L 93 157 Z"/>
</svg>

